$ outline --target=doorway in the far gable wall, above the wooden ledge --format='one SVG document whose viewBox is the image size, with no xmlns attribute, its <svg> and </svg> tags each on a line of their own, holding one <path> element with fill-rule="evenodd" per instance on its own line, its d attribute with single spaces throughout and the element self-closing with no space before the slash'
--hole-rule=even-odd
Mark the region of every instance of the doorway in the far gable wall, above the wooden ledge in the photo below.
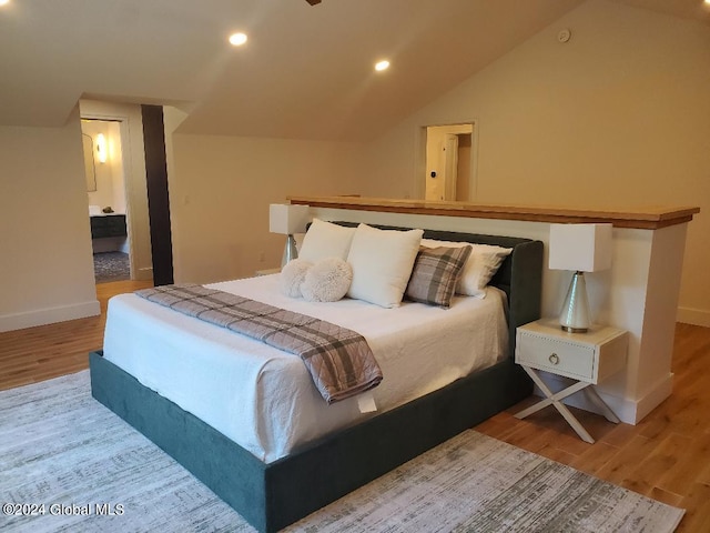
<svg viewBox="0 0 710 533">
<path fill-rule="evenodd" d="M 426 128 L 425 200 L 475 198 L 474 123 Z"/>
</svg>

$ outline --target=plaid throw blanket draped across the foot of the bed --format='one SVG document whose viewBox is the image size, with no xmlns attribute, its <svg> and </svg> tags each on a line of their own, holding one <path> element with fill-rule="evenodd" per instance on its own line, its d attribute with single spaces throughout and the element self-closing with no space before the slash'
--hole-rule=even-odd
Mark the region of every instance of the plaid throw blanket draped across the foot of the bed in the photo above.
<svg viewBox="0 0 710 533">
<path fill-rule="evenodd" d="M 328 404 L 382 381 L 367 341 L 339 325 L 195 284 L 155 286 L 135 294 L 298 355 Z"/>
</svg>

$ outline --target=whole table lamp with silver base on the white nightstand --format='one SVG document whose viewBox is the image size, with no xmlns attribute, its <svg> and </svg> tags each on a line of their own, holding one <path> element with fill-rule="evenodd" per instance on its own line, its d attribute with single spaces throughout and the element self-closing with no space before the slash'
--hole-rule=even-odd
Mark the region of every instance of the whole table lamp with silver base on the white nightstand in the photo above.
<svg viewBox="0 0 710 533">
<path fill-rule="evenodd" d="M 571 270 L 559 324 L 570 333 L 589 330 L 589 299 L 585 272 L 611 266 L 611 224 L 550 224 L 549 268 Z"/>
</svg>

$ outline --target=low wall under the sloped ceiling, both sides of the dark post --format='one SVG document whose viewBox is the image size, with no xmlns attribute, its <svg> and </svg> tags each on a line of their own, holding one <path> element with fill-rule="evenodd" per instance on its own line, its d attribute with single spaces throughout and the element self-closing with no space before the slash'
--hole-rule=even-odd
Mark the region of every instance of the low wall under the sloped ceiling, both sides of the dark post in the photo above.
<svg viewBox="0 0 710 533">
<path fill-rule="evenodd" d="M 128 125 L 122 140 L 131 259 L 139 276 L 150 279 L 140 105 L 82 100 L 81 112 Z M 268 232 L 270 203 L 290 193 L 358 189 L 354 144 L 172 134 L 181 118 L 168 108 L 176 281 L 278 266 L 285 238 Z M 0 330 L 98 314 L 79 109 L 61 129 L 0 128 Z"/>
</svg>

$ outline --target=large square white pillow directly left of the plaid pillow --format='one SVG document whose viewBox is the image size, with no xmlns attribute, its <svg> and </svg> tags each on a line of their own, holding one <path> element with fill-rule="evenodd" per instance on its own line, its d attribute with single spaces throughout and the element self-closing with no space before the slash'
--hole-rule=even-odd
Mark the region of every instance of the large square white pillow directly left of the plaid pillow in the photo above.
<svg viewBox="0 0 710 533">
<path fill-rule="evenodd" d="M 347 255 L 353 266 L 347 295 L 383 308 L 398 306 L 423 234 L 423 230 L 378 230 L 359 224 Z"/>
</svg>

